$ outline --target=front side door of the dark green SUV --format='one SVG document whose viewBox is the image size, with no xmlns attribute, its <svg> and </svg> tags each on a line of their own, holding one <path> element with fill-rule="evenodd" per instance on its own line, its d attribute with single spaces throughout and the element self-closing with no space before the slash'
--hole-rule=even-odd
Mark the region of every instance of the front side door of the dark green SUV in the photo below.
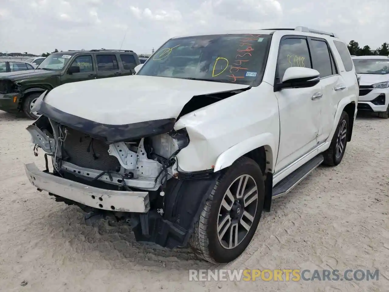
<svg viewBox="0 0 389 292">
<path fill-rule="evenodd" d="M 93 65 L 92 55 L 81 55 L 75 57 L 68 68 L 72 66 L 80 67 L 80 72 L 68 74 L 65 71 L 65 74 L 61 77 L 61 84 L 96 79 L 97 74 L 96 68 Z"/>
</svg>

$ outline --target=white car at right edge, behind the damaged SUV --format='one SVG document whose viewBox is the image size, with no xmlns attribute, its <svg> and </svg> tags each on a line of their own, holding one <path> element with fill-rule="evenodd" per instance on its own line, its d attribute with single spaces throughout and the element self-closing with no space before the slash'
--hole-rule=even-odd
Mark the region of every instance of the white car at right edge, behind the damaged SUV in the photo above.
<svg viewBox="0 0 389 292">
<path fill-rule="evenodd" d="M 389 118 L 389 56 L 352 57 L 359 77 L 358 110 Z"/>
</svg>

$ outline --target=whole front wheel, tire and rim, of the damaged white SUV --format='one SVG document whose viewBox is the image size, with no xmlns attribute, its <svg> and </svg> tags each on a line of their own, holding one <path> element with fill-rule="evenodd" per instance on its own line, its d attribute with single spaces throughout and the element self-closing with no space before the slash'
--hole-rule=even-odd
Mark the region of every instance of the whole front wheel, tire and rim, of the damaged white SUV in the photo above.
<svg viewBox="0 0 389 292">
<path fill-rule="evenodd" d="M 237 259 L 255 234 L 264 198 L 261 168 L 250 158 L 239 158 L 216 182 L 189 245 L 212 263 Z"/>
</svg>

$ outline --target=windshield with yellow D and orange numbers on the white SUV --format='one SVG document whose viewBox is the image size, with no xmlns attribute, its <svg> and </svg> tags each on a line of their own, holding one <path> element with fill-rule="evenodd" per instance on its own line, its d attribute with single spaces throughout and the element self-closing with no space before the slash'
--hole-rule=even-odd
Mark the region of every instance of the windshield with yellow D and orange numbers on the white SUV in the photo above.
<svg viewBox="0 0 389 292">
<path fill-rule="evenodd" d="M 252 85 L 262 79 L 270 35 L 202 35 L 170 39 L 138 75 Z"/>
</svg>

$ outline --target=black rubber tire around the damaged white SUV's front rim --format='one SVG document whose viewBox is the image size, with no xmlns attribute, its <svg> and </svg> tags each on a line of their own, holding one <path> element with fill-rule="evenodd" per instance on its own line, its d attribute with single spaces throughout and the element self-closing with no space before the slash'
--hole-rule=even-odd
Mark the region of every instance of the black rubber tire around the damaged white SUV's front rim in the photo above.
<svg viewBox="0 0 389 292">
<path fill-rule="evenodd" d="M 246 235 L 241 239 L 240 243 L 234 248 L 228 249 L 223 247 L 219 241 L 217 233 L 217 224 L 219 218 L 219 212 L 221 211 L 221 204 L 224 199 L 226 191 L 230 188 L 231 184 L 238 179 L 240 176 L 248 175 L 250 181 L 254 182 L 257 187 L 258 199 L 257 202 L 252 205 L 256 208 L 254 219 L 252 220 L 251 227 Z M 247 183 L 249 185 L 249 183 Z M 234 185 L 233 185 L 234 186 Z M 252 189 L 251 186 L 249 188 Z M 189 239 L 189 245 L 193 251 L 200 256 L 202 259 L 212 262 L 214 264 L 225 264 L 231 262 L 239 257 L 247 248 L 251 242 L 254 233 L 258 227 L 259 219 L 261 218 L 263 202 L 265 198 L 265 185 L 263 175 L 259 165 L 252 159 L 247 157 L 241 157 L 234 162 L 229 169 L 223 174 L 221 178 L 216 182 L 214 189 L 210 193 L 203 211 L 200 215 L 198 222 L 195 225 L 195 230 Z M 251 200 L 248 200 L 251 201 Z M 242 202 L 242 199 L 241 199 Z M 242 205 L 243 206 L 243 205 Z M 244 207 L 242 207 L 244 208 Z M 244 209 L 242 209 L 244 213 Z M 253 209 L 252 209 L 253 210 Z M 231 209 L 231 212 L 233 210 Z M 251 215 L 253 214 L 250 212 Z M 239 214 L 239 213 L 238 213 Z M 243 216 L 243 215 L 241 215 Z M 232 217 L 232 215 L 231 215 Z M 235 219 L 234 219 L 235 220 Z M 240 222 L 241 220 L 237 219 Z M 230 221 L 231 222 L 231 221 Z M 222 225 L 222 224 L 221 224 Z M 232 230 L 231 226 L 228 227 L 229 232 Z M 222 225 L 224 227 L 224 225 Z M 238 228 L 238 227 L 236 227 Z M 227 229 L 227 228 L 226 228 Z M 241 231 L 244 229 L 241 229 Z M 227 232 L 226 232 L 227 234 Z"/>
</svg>

